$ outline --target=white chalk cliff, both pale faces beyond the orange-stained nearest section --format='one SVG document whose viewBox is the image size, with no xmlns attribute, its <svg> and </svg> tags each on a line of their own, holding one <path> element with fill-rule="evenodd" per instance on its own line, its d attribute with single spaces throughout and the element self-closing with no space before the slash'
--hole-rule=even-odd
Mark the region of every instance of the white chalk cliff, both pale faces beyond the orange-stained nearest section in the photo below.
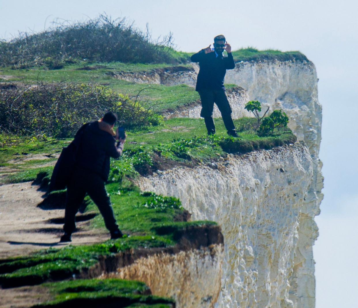
<svg viewBox="0 0 358 308">
<path fill-rule="evenodd" d="M 315 67 L 309 61 L 241 62 L 227 71 L 226 83 L 243 88 L 229 94 L 234 118 L 248 115 L 246 101 L 259 100 L 262 110 L 285 111 L 305 144 L 233 155 L 217 170 L 174 168 L 141 178 L 139 185 L 179 197 L 193 220 L 221 226 L 224 262 L 214 307 L 313 308 L 314 217 L 323 198 Z M 189 106 L 179 116 L 198 117 L 198 110 Z"/>
</svg>

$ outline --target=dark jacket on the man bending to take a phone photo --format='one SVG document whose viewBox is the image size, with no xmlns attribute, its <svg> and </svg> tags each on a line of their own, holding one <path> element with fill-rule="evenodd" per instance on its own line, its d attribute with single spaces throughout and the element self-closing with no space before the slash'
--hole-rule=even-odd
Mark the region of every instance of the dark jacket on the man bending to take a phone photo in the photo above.
<svg viewBox="0 0 358 308">
<path fill-rule="evenodd" d="M 96 173 L 107 181 L 110 173 L 110 157 L 120 157 L 123 146 L 120 143 L 116 145 L 115 138 L 108 131 L 100 129 L 98 121 L 89 123 L 84 129 L 82 126 L 77 134 L 81 130 L 83 134 L 76 157 L 77 167 Z"/>
</svg>

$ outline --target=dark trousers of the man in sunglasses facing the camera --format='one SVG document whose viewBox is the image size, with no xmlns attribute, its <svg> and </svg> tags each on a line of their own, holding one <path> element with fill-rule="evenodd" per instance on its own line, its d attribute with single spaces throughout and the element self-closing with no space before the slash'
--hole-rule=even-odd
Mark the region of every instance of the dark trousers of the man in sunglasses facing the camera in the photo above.
<svg viewBox="0 0 358 308">
<path fill-rule="evenodd" d="M 215 125 L 213 119 L 214 103 L 218 106 L 218 109 L 221 112 L 221 116 L 224 121 L 227 133 L 233 133 L 235 131 L 235 125 L 231 118 L 232 110 L 227 99 L 226 91 L 223 89 L 205 89 L 200 90 L 198 92 L 202 101 L 202 110 L 200 112 L 200 116 L 204 118 L 208 134 L 211 135 L 215 133 Z"/>
</svg>

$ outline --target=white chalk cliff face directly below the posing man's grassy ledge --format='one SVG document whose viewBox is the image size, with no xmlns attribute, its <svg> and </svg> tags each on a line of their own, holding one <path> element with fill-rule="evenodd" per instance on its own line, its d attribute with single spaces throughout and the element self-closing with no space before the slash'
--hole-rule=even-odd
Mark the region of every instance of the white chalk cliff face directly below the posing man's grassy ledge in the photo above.
<svg viewBox="0 0 358 308">
<path fill-rule="evenodd" d="M 290 278 L 312 175 L 308 148 L 295 143 L 233 155 L 217 170 L 174 168 L 138 184 L 179 197 L 194 220 L 221 225 L 225 259 L 218 307 L 297 307 L 290 300 Z"/>
</svg>

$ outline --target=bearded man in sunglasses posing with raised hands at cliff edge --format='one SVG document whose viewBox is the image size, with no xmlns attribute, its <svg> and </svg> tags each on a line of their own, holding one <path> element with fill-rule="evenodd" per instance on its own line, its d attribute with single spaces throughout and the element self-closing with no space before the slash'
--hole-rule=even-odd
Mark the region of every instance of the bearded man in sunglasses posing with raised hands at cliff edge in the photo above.
<svg viewBox="0 0 358 308">
<path fill-rule="evenodd" d="M 228 56 L 223 56 L 226 50 Z M 199 74 L 195 88 L 202 101 L 200 116 L 204 118 L 208 135 L 215 134 L 213 120 L 214 103 L 218 106 L 227 133 L 230 136 L 238 137 L 234 123 L 231 118 L 231 107 L 227 99 L 224 78 L 226 70 L 235 68 L 234 59 L 231 54 L 231 46 L 226 42 L 225 36 L 217 35 L 214 38 L 214 48 L 211 44 L 190 58 L 192 62 L 199 62 Z"/>
</svg>

